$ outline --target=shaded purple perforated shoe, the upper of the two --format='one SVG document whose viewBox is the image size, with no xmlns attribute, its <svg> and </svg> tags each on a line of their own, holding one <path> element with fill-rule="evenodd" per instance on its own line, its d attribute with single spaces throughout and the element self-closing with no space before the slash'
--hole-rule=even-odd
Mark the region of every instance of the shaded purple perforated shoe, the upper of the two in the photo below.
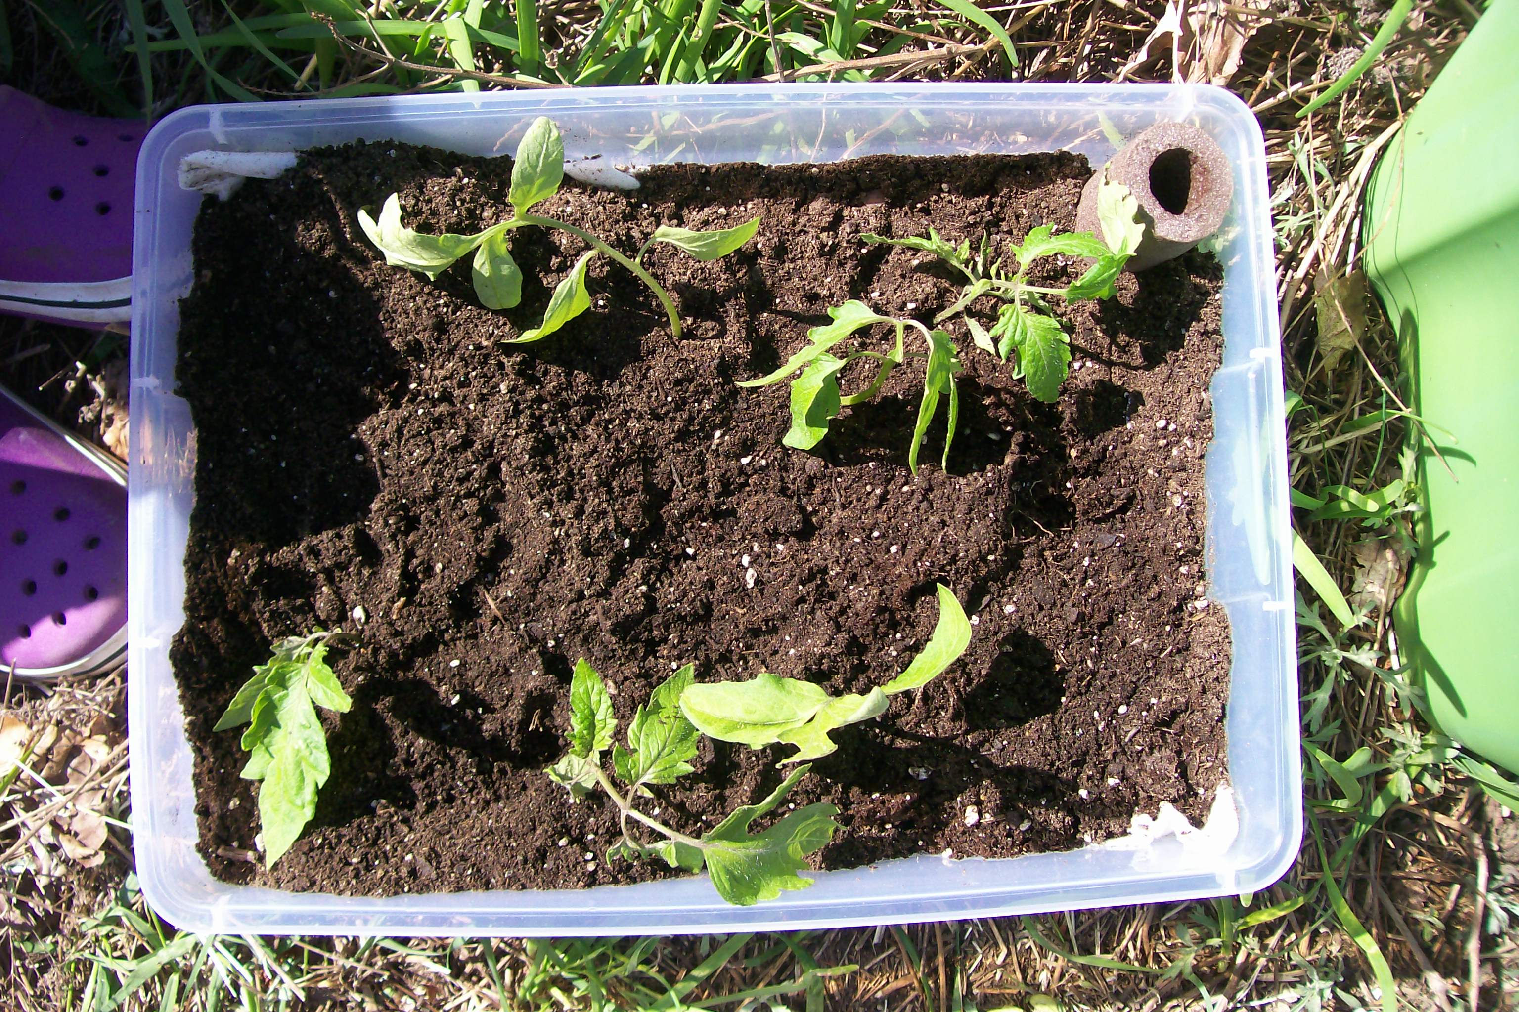
<svg viewBox="0 0 1519 1012">
<path fill-rule="evenodd" d="M 103 328 L 132 316 L 132 190 L 147 126 L 0 85 L 0 311 Z"/>
</svg>

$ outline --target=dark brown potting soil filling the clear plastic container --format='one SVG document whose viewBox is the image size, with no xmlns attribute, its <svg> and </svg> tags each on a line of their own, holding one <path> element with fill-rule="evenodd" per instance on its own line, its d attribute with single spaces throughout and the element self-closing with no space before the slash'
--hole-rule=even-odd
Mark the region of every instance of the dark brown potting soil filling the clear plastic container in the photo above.
<svg viewBox="0 0 1519 1012">
<path fill-rule="evenodd" d="M 393 894 L 673 874 L 608 863 L 615 809 L 570 804 L 542 772 L 564 751 L 576 658 L 614 689 L 623 728 L 687 662 L 703 680 L 770 671 L 864 692 L 927 640 L 934 583 L 974 616 L 971 646 L 835 733 L 794 790 L 842 809 L 820 866 L 1080 847 L 1162 801 L 1206 813 L 1226 777 L 1229 678 L 1202 572 L 1211 256 L 1059 308 L 1075 363 L 1054 405 L 957 334 L 949 472 L 940 414 L 913 478 L 921 370 L 846 408 L 814 454 L 779 445 L 785 384 L 735 381 L 773 369 L 828 305 L 927 320 L 954 299 L 939 264 L 861 232 L 934 225 L 1006 247 L 1047 222 L 1069 229 L 1085 159 L 671 165 L 633 194 L 567 182 L 541 212 L 624 250 L 661 223 L 761 226 L 709 264 L 650 252 L 681 340 L 600 258 L 591 311 L 521 347 L 498 341 L 541 319 L 579 240 L 515 232 L 523 305 L 492 313 L 468 258 L 437 281 L 386 267 L 354 217 L 398 190 L 407 225 L 477 231 L 507 214 L 509 173 L 504 158 L 360 144 L 201 214 L 179 332 L 199 435 L 173 665 L 216 875 Z M 264 871 L 238 734 L 211 725 L 272 642 L 334 624 L 360 633 L 334 651 L 352 712 L 324 715 L 331 780 Z M 773 787 L 787 751 L 703 740 L 696 772 L 649 804 L 699 833 Z"/>
</svg>

